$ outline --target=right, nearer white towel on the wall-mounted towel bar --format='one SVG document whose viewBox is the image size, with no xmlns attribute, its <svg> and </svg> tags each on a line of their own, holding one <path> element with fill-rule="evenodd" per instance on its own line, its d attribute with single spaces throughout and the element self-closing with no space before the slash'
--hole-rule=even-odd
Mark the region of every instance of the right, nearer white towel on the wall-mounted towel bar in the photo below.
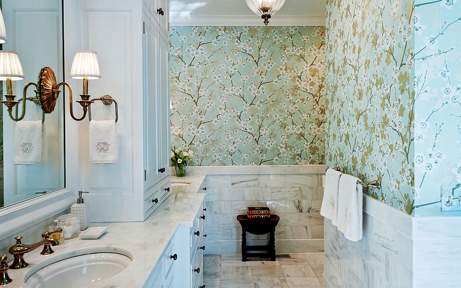
<svg viewBox="0 0 461 288">
<path fill-rule="evenodd" d="M 351 241 L 362 239 L 363 189 L 359 178 L 343 174 L 339 183 L 338 230 Z"/>
</svg>

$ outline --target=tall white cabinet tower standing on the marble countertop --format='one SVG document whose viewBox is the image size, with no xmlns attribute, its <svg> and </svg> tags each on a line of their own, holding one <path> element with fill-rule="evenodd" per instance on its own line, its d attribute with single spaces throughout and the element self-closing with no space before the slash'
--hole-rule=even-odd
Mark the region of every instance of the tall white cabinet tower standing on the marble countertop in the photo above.
<svg viewBox="0 0 461 288">
<path fill-rule="evenodd" d="M 96 51 L 101 78 L 90 80 L 89 92 L 112 95 L 119 109 L 118 162 L 89 163 L 85 119 L 74 124 L 79 149 L 72 157 L 78 157 L 79 166 L 73 175 L 79 177 L 79 189 L 90 191 L 86 202 L 92 222 L 143 221 L 166 198 L 162 193 L 171 173 L 167 2 L 68 0 L 64 5 L 66 71 L 75 51 Z M 81 82 L 66 80 L 78 98 Z M 80 111 L 77 105 L 74 111 Z M 92 119 L 114 118 L 113 107 L 96 102 L 91 110 Z M 151 198 L 148 203 L 154 191 L 159 202 Z"/>
</svg>

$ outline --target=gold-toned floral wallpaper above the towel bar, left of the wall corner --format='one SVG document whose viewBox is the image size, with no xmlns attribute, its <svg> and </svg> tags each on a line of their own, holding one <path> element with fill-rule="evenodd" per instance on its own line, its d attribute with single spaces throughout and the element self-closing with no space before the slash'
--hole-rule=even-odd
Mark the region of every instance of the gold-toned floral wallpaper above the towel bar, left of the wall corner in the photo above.
<svg viewBox="0 0 461 288">
<path fill-rule="evenodd" d="M 381 179 L 366 193 L 412 214 L 412 2 L 328 0 L 326 30 L 326 165 Z"/>
</svg>

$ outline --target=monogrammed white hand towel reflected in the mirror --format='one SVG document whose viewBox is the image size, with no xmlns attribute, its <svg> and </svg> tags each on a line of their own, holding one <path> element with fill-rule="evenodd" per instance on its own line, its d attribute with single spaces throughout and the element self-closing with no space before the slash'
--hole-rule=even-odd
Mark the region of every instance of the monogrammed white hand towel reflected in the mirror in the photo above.
<svg viewBox="0 0 461 288">
<path fill-rule="evenodd" d="M 43 123 L 38 121 L 17 121 L 14 126 L 15 165 L 36 165 L 41 162 L 43 150 Z"/>
</svg>

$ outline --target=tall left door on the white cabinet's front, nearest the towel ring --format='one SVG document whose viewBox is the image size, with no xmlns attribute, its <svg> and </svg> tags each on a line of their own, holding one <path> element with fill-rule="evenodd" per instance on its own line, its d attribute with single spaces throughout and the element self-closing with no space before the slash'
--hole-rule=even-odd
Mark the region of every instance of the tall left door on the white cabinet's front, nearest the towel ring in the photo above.
<svg viewBox="0 0 461 288">
<path fill-rule="evenodd" d="M 149 12 L 143 12 L 143 109 L 144 109 L 144 190 L 149 189 L 160 180 L 159 133 L 160 105 L 158 86 L 158 31 L 149 19 Z"/>
</svg>

